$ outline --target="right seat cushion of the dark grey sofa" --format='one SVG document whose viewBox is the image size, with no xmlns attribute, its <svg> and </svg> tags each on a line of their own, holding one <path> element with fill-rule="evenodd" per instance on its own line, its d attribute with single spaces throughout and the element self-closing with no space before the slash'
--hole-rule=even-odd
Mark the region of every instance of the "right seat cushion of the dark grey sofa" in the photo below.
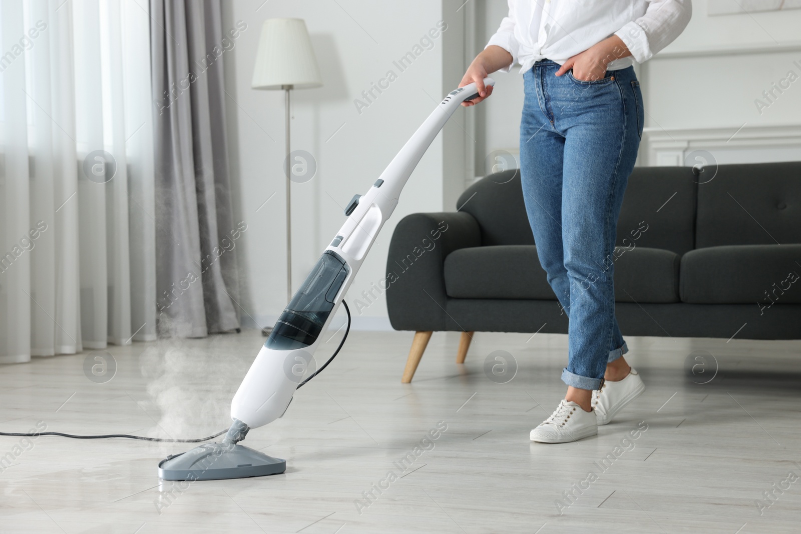
<svg viewBox="0 0 801 534">
<path fill-rule="evenodd" d="M 699 248 L 682 257 L 682 301 L 801 303 L 801 245 Z"/>
</svg>

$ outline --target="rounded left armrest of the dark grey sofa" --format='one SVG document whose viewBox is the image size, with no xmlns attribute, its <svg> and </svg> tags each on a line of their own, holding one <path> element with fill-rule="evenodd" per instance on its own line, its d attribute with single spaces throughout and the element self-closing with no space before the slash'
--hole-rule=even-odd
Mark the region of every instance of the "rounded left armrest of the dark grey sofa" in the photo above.
<svg viewBox="0 0 801 534">
<path fill-rule="evenodd" d="M 445 330 L 445 257 L 481 245 L 473 215 L 414 213 L 395 227 L 387 259 L 387 311 L 396 330 Z"/>
</svg>

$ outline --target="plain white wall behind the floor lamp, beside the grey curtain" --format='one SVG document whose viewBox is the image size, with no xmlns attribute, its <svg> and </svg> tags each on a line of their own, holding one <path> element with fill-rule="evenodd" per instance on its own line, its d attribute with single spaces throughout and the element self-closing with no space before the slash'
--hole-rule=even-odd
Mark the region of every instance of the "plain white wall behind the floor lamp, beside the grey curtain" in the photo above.
<svg viewBox="0 0 801 534">
<path fill-rule="evenodd" d="M 310 152 L 318 165 L 317 175 L 310 182 L 292 184 L 292 279 L 297 288 L 344 223 L 345 204 L 354 194 L 368 191 L 437 102 L 461 78 L 444 79 L 448 77 L 443 74 L 448 71 L 443 68 L 444 40 L 461 42 L 463 38 L 460 26 L 453 23 L 461 20 L 463 12 L 457 13 L 449 3 L 452 2 L 223 3 L 225 27 L 239 20 L 248 24 L 235 49 L 225 58 L 226 90 L 231 97 L 227 110 L 235 211 L 239 219 L 248 223 L 248 231 L 237 248 L 244 295 L 240 304 L 246 325 L 252 326 L 248 316 L 260 325 L 272 325 L 286 304 L 284 94 L 250 88 L 262 22 L 276 17 L 304 18 L 324 80 L 319 89 L 292 93 L 292 150 Z M 412 50 L 444 17 L 449 29 L 435 39 L 433 49 L 425 50 L 412 66 L 400 72 L 393 61 Z M 451 48 L 456 53 L 459 46 Z M 362 90 L 368 90 L 371 82 L 383 78 L 388 70 L 395 70 L 397 80 L 360 114 L 354 98 L 359 98 Z M 445 135 L 451 132 L 461 136 L 461 131 L 449 125 Z M 388 243 L 397 221 L 417 211 L 444 211 L 446 207 L 453 210 L 446 206 L 444 198 L 447 195 L 452 199 L 453 190 L 460 184 L 444 179 L 443 153 L 440 135 L 409 179 L 392 219 L 356 276 L 348 300 L 360 298 L 372 282 L 384 278 Z M 462 173 L 461 187 L 463 177 Z M 354 315 L 356 328 L 389 328 L 383 298 L 362 315 Z"/>
</svg>

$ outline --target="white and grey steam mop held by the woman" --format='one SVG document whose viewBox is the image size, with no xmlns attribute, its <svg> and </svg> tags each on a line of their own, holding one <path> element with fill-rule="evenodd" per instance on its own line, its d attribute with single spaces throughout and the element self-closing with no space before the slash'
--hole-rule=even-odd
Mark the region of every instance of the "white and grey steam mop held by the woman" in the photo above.
<svg viewBox="0 0 801 534">
<path fill-rule="evenodd" d="M 492 78 L 485 78 L 484 83 L 485 86 L 495 85 Z M 274 475 L 286 470 L 286 460 L 239 445 L 239 441 L 244 440 L 250 429 L 284 416 L 296 389 L 319 372 L 300 382 L 312 367 L 312 355 L 320 345 L 320 332 L 328 327 L 343 303 L 364 257 L 397 206 L 409 175 L 461 102 L 477 96 L 475 83 L 451 91 L 400 149 L 370 190 L 365 195 L 355 195 L 348 203 L 345 208 L 348 220 L 278 318 L 239 385 L 231 401 L 233 424 L 223 442 L 203 444 L 189 452 L 167 456 L 159 463 L 159 478 L 221 480 Z M 345 307 L 347 310 L 347 304 Z"/>
</svg>

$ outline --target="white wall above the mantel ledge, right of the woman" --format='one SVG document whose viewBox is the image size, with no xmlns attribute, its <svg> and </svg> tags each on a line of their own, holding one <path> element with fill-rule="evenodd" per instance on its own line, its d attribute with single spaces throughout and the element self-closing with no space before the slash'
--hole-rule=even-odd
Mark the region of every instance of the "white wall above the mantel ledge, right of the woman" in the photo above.
<svg viewBox="0 0 801 534">
<path fill-rule="evenodd" d="M 801 76 L 801 67 L 793 64 L 801 65 L 801 10 L 710 17 L 705 0 L 693 3 L 693 18 L 684 33 L 644 65 L 644 98 L 650 105 L 646 126 L 798 123 L 801 81 L 762 114 L 754 101 L 788 70 Z"/>
</svg>

